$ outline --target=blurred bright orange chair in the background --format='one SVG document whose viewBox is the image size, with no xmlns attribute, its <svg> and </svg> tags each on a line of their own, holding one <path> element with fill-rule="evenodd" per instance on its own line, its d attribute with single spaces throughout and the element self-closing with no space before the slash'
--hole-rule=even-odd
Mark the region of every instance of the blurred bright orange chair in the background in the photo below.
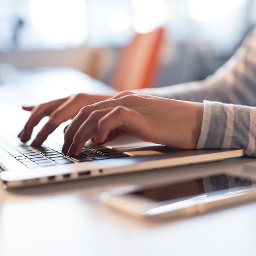
<svg viewBox="0 0 256 256">
<path fill-rule="evenodd" d="M 137 34 L 123 48 L 109 84 L 120 91 L 152 87 L 163 38 L 163 28 Z"/>
</svg>

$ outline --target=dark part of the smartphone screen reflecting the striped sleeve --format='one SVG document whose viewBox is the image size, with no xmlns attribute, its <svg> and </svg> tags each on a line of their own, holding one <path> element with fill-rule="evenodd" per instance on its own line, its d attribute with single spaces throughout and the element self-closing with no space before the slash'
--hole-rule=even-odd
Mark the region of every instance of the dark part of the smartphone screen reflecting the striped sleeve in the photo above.
<svg viewBox="0 0 256 256">
<path fill-rule="evenodd" d="M 138 195 L 154 201 L 167 201 L 177 198 L 197 197 L 198 195 L 210 196 L 218 191 L 218 194 L 226 194 L 230 189 L 252 188 L 256 184 L 256 180 L 250 178 L 241 178 L 232 175 L 214 175 L 203 177 L 195 180 L 187 180 L 180 183 L 173 183 L 154 188 L 138 190 L 132 192 L 131 195 Z"/>
</svg>

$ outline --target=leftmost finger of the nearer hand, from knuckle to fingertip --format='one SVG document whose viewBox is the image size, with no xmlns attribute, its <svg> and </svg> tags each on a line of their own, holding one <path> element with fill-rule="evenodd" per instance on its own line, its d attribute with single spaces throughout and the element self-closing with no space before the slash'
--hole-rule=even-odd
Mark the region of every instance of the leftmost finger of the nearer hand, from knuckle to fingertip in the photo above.
<svg viewBox="0 0 256 256">
<path fill-rule="evenodd" d="M 130 92 L 128 92 L 130 93 Z M 69 127 L 65 131 L 64 134 L 64 143 L 67 148 L 73 143 L 73 138 L 78 131 L 79 127 L 83 124 L 83 122 L 88 118 L 90 113 L 96 110 L 115 108 L 116 106 L 122 105 L 128 108 L 134 108 L 134 106 L 141 104 L 141 97 L 131 93 L 129 95 L 122 96 L 116 99 L 108 99 L 102 102 L 95 103 L 93 105 L 86 106 L 81 108 L 79 113 L 70 123 Z"/>
</svg>

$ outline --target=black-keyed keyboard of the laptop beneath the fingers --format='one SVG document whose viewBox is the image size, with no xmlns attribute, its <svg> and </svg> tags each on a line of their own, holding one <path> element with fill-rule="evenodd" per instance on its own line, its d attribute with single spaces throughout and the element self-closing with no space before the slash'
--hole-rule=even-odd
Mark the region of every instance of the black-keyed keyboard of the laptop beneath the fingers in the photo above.
<svg viewBox="0 0 256 256">
<path fill-rule="evenodd" d="M 70 163 L 88 162 L 119 157 L 129 157 L 128 154 L 114 148 L 95 146 L 93 148 L 84 147 L 76 157 L 69 157 L 61 153 L 62 145 L 49 143 L 40 147 L 24 145 L 20 141 L 6 142 L 0 140 L 0 147 L 8 152 L 27 168 L 37 168 L 38 166 L 55 166 Z"/>
</svg>

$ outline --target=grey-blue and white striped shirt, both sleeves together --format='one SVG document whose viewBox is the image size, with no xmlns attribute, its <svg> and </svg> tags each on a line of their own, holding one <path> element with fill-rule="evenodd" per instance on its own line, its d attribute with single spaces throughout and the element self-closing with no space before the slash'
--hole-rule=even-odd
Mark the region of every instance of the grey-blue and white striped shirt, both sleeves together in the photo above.
<svg viewBox="0 0 256 256">
<path fill-rule="evenodd" d="M 256 157 L 256 28 L 205 80 L 136 92 L 204 102 L 197 148 L 244 148 L 245 155 Z"/>
</svg>

